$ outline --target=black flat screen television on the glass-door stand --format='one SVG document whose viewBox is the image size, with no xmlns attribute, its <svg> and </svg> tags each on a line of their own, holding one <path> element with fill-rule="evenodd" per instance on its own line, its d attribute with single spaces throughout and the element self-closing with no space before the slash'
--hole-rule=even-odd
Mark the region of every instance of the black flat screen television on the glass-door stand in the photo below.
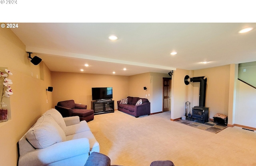
<svg viewBox="0 0 256 166">
<path fill-rule="evenodd" d="M 112 87 L 92 88 L 92 100 L 108 100 L 113 98 Z"/>
</svg>

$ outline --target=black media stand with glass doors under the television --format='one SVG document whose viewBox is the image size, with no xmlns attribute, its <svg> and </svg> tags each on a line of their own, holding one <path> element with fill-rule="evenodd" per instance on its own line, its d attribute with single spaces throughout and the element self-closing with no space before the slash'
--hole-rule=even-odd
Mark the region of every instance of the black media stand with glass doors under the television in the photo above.
<svg viewBox="0 0 256 166">
<path fill-rule="evenodd" d="M 94 115 L 114 112 L 114 100 L 92 101 Z"/>
</svg>

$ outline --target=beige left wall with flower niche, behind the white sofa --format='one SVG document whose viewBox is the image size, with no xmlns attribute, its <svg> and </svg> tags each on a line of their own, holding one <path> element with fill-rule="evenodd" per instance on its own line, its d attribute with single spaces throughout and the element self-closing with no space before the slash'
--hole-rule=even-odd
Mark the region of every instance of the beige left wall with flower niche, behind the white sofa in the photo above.
<svg viewBox="0 0 256 166">
<path fill-rule="evenodd" d="M 9 78 L 14 93 L 10 96 L 11 119 L 0 123 L 0 165 L 16 166 L 19 139 L 52 106 L 50 93 L 46 103 L 46 88 L 51 85 L 50 70 L 43 62 L 40 67 L 28 60 L 25 45 L 10 29 L 0 29 L 0 45 L 0 66 L 8 67 L 13 73 Z M 44 80 L 40 79 L 40 70 Z"/>
</svg>

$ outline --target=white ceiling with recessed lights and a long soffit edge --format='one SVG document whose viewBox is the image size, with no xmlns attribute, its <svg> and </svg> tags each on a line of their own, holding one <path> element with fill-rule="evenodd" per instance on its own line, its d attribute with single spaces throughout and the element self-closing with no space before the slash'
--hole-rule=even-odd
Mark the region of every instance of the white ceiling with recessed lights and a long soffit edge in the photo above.
<svg viewBox="0 0 256 166">
<path fill-rule="evenodd" d="M 256 61 L 256 23 L 18 23 L 51 71 L 130 76 Z M 248 33 L 238 33 L 254 27 Z M 118 40 L 110 41 L 109 35 Z M 172 51 L 178 54 L 170 55 Z M 203 64 L 202 61 L 208 61 Z M 84 64 L 90 66 L 85 67 Z M 126 71 L 122 70 L 127 68 Z"/>
</svg>

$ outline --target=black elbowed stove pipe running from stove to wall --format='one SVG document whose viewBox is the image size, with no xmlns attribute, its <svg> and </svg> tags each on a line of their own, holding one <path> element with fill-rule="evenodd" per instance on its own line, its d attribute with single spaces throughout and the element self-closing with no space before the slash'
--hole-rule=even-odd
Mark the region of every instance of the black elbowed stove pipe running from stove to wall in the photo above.
<svg viewBox="0 0 256 166">
<path fill-rule="evenodd" d="M 205 106 L 205 96 L 206 96 L 206 82 L 207 78 L 205 76 L 202 77 L 191 77 L 189 78 L 188 75 L 185 76 L 184 82 L 186 85 L 189 82 L 200 82 L 200 90 L 199 90 L 199 107 Z"/>
</svg>

